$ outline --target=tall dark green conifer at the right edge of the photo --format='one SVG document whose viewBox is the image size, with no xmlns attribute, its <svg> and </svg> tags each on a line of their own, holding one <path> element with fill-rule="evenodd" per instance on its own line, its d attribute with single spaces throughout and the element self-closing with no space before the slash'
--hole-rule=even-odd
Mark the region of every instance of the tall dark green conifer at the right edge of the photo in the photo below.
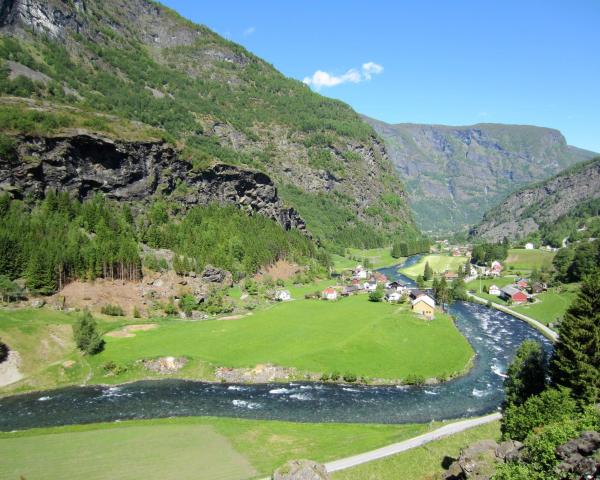
<svg viewBox="0 0 600 480">
<path fill-rule="evenodd" d="M 559 327 L 552 380 L 585 403 L 600 400 L 600 271 L 585 277 Z"/>
</svg>

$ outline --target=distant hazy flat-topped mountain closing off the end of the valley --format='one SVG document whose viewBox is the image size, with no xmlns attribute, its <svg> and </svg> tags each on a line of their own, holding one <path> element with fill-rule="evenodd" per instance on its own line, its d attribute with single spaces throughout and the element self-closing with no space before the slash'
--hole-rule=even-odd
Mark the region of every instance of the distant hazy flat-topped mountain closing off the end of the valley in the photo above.
<svg viewBox="0 0 600 480">
<path fill-rule="evenodd" d="M 390 125 L 363 118 L 385 140 L 417 224 L 435 233 L 463 231 L 507 194 L 594 156 L 550 128 Z"/>
</svg>

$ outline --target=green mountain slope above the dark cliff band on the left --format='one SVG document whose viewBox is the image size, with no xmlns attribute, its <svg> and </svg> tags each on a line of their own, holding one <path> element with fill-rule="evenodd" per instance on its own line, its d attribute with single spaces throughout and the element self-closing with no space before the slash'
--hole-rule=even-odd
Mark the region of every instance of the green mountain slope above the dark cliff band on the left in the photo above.
<svg viewBox="0 0 600 480">
<path fill-rule="evenodd" d="M 12 0 L 0 29 L 5 95 L 143 122 L 197 171 L 264 172 L 325 243 L 418 236 L 383 144 L 350 107 L 206 27 L 147 0 Z M 332 210 L 341 228 L 323 223 Z"/>
</svg>

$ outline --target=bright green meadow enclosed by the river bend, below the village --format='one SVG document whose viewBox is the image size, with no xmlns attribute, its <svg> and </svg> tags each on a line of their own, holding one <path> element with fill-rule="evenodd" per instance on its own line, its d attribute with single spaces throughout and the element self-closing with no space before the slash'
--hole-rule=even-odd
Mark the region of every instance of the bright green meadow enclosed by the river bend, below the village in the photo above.
<svg viewBox="0 0 600 480">
<path fill-rule="evenodd" d="M 407 307 L 372 303 L 366 295 L 337 302 L 296 300 L 239 320 L 158 323 L 159 328 L 137 332 L 134 338 L 106 337 L 105 350 L 89 360 L 93 381 L 107 380 L 101 365 L 108 360 L 133 365 L 141 358 L 167 355 L 215 366 L 273 363 L 316 373 L 429 378 L 463 371 L 473 354 L 450 317 L 439 314 L 424 321 Z M 194 365 L 191 361 L 189 368 Z M 129 379 L 127 374 L 123 379 Z"/>
</svg>

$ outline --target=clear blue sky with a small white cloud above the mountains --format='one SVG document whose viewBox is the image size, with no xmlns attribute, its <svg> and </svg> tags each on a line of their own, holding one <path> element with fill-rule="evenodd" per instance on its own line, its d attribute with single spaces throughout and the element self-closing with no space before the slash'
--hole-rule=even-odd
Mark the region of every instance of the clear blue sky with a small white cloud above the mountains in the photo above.
<svg viewBox="0 0 600 480">
<path fill-rule="evenodd" d="M 600 152 L 600 0 L 163 3 L 386 122 L 540 125 Z"/>
</svg>

